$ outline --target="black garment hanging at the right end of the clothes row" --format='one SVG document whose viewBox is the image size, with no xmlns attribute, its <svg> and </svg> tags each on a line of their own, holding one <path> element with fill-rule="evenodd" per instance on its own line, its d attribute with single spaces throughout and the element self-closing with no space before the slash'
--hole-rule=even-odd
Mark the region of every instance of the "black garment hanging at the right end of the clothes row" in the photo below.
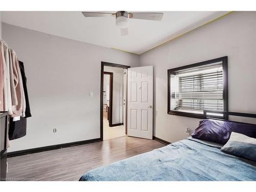
<svg viewBox="0 0 256 192">
<path fill-rule="evenodd" d="M 20 73 L 22 74 L 22 81 L 23 81 L 23 89 L 25 94 L 26 100 L 26 111 L 25 117 L 20 117 L 20 120 L 13 121 L 13 118 L 10 118 L 10 126 L 9 126 L 9 140 L 18 139 L 24 137 L 27 132 L 27 118 L 31 117 L 30 113 L 30 106 L 29 106 L 29 96 L 27 90 L 27 78 L 25 75 L 24 64 L 22 61 L 19 62 Z"/>
</svg>

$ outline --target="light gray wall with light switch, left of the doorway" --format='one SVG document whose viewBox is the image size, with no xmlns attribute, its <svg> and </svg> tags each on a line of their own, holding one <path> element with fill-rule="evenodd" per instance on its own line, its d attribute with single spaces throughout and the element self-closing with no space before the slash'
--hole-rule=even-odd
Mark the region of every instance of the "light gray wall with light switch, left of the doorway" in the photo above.
<svg viewBox="0 0 256 192">
<path fill-rule="evenodd" d="M 8 152 L 99 138 L 101 61 L 136 67 L 138 55 L 2 27 L 3 38 L 24 62 L 32 113 L 27 135 L 11 141 Z"/>
</svg>

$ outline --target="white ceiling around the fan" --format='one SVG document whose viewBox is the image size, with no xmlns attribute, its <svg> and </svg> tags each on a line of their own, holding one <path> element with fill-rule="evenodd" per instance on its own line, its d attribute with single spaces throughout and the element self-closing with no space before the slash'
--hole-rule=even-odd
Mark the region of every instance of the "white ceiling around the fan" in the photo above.
<svg viewBox="0 0 256 192">
<path fill-rule="evenodd" d="M 1 19 L 2 22 L 11 25 L 141 54 L 228 12 L 163 13 L 161 22 L 129 19 L 127 36 L 120 36 L 120 30 L 115 25 L 115 17 L 86 18 L 78 11 L 2 11 Z"/>
</svg>

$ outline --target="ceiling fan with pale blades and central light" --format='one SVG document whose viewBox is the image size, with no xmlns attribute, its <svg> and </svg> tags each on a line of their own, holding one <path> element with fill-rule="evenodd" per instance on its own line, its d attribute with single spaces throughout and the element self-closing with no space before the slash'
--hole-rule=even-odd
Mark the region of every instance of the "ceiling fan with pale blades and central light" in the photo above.
<svg viewBox="0 0 256 192">
<path fill-rule="evenodd" d="M 121 36 L 128 35 L 128 19 L 146 19 L 146 20 L 158 20 L 163 17 L 163 13 L 153 12 L 133 12 L 117 11 L 116 13 L 104 13 L 104 12 L 82 12 L 85 17 L 116 17 L 116 26 L 120 28 Z"/>
</svg>

